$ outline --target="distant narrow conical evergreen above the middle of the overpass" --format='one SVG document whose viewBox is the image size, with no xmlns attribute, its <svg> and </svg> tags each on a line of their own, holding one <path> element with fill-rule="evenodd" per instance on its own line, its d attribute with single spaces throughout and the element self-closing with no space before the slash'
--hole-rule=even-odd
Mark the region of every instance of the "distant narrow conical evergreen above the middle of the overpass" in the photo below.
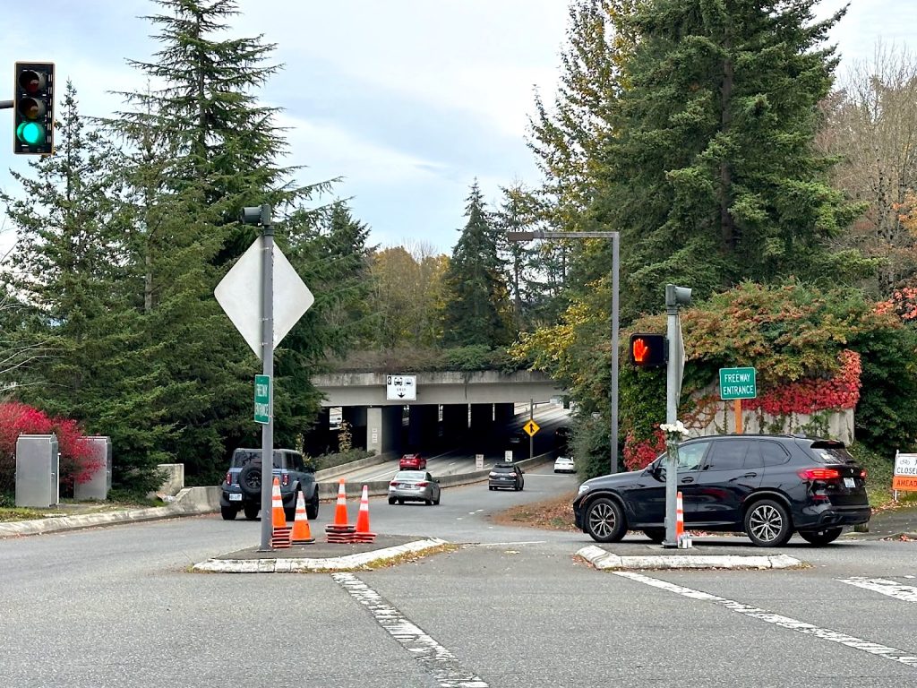
<svg viewBox="0 0 917 688">
<path fill-rule="evenodd" d="M 452 250 L 444 277 L 444 342 L 492 349 L 505 346 L 514 338 L 512 305 L 497 253 L 497 231 L 477 181 L 471 184 L 465 216 L 468 223 Z"/>
</svg>

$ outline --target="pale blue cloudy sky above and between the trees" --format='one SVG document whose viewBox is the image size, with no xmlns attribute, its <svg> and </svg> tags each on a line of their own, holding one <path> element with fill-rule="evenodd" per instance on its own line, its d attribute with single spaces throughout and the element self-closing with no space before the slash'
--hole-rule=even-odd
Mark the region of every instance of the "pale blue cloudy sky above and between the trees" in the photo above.
<svg viewBox="0 0 917 688">
<path fill-rule="evenodd" d="M 846 0 L 823 0 L 826 17 Z M 71 79 L 83 114 L 123 106 L 112 91 L 141 90 L 127 60 L 157 50 L 150 0 L 45 0 L 41 10 L 7 3 L 0 65 L 54 61 Z M 284 69 L 260 92 L 283 108 L 297 181 L 340 178 L 315 205 L 348 199 L 370 227 L 370 244 L 451 253 L 477 179 L 495 205 L 502 186 L 539 180 L 526 146 L 536 90 L 555 92 L 568 0 L 238 0 L 231 35 L 277 44 Z M 30 27 L 39 28 L 30 28 Z M 868 61 L 877 42 L 917 50 L 917 0 L 850 0 L 831 34 L 840 72 Z M 62 89 L 60 89 L 62 91 Z M 12 98 L 12 77 L 0 100 Z M 12 153 L 12 111 L 0 117 L 0 187 L 31 156 Z M 6 119 L 9 117 L 9 119 Z M 6 130 L 8 144 L 3 144 Z M 3 210 L 3 209 L 0 209 Z M 15 230 L 0 217 L 0 255 Z"/>
</svg>

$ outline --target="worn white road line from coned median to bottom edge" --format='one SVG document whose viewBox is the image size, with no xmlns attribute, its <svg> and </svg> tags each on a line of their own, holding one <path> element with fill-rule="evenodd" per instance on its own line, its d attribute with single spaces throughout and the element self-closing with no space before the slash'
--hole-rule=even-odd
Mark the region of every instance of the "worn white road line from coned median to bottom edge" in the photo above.
<svg viewBox="0 0 917 688">
<path fill-rule="evenodd" d="M 455 655 L 414 626 L 381 594 L 372 590 L 353 573 L 333 573 L 338 585 L 344 588 L 359 604 L 370 610 L 379 625 L 400 642 L 404 649 L 419 661 L 442 688 L 488 688 L 488 683 L 473 672 L 462 669 Z"/>
</svg>

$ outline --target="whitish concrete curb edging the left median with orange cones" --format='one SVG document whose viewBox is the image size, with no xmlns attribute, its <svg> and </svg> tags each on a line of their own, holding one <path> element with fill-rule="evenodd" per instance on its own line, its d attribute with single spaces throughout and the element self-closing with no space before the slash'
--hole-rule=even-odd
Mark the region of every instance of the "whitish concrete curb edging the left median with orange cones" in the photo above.
<svg viewBox="0 0 917 688">
<path fill-rule="evenodd" d="M 415 540 L 396 547 L 327 559 L 208 559 L 202 563 L 194 564 L 193 571 L 209 573 L 322 573 L 326 571 L 349 571 L 361 566 L 367 566 L 370 563 L 395 559 L 404 554 L 422 552 L 426 549 L 434 549 L 447 544 L 446 540 L 429 538 Z"/>
</svg>

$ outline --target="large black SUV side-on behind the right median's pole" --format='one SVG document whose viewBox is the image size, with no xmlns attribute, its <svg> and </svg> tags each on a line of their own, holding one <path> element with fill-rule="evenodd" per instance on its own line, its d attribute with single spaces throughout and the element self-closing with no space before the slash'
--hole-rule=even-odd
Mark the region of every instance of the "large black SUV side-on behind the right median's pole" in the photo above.
<svg viewBox="0 0 917 688">
<path fill-rule="evenodd" d="M 577 527 L 597 542 L 627 530 L 665 538 L 666 455 L 642 471 L 593 478 L 573 500 Z M 779 547 L 793 532 L 826 545 L 871 514 L 866 472 L 843 442 L 796 435 L 717 435 L 679 445 L 685 530 L 744 532 Z"/>
</svg>

